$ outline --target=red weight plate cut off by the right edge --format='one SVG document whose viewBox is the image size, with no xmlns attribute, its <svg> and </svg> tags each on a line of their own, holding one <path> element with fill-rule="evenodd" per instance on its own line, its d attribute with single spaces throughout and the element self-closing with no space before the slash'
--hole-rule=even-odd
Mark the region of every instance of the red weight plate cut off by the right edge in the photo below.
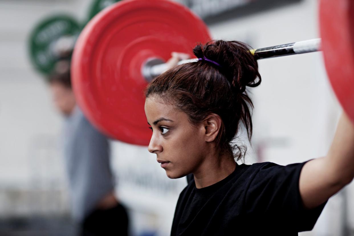
<svg viewBox="0 0 354 236">
<path fill-rule="evenodd" d="M 321 0 L 320 31 L 331 85 L 354 122 L 354 1 Z"/>
</svg>

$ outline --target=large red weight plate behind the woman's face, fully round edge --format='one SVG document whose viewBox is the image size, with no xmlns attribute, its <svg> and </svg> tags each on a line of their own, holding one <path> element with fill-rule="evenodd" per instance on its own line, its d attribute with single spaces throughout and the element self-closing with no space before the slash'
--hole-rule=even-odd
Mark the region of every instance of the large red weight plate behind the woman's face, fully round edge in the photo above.
<svg viewBox="0 0 354 236">
<path fill-rule="evenodd" d="M 167 60 L 210 41 L 203 21 L 167 0 L 127 0 L 106 8 L 84 28 L 72 58 L 72 83 L 86 117 L 126 143 L 148 145 L 141 75 L 148 58 Z"/>
</svg>

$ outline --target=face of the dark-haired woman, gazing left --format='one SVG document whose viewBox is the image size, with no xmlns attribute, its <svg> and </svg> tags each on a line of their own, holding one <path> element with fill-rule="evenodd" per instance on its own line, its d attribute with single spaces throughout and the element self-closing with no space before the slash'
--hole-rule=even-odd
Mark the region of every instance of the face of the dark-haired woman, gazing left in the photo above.
<svg viewBox="0 0 354 236">
<path fill-rule="evenodd" d="M 152 129 L 148 150 L 167 176 L 181 178 L 198 169 L 207 150 L 204 126 L 191 125 L 185 113 L 155 97 L 145 100 L 145 114 Z"/>
</svg>

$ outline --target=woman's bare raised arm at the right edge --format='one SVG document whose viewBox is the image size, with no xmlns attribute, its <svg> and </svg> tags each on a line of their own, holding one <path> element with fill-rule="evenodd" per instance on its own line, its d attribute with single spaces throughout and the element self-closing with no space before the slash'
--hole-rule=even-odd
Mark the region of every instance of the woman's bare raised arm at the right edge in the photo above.
<svg viewBox="0 0 354 236">
<path fill-rule="evenodd" d="M 302 168 L 299 189 L 304 206 L 310 209 L 321 205 L 353 178 L 354 125 L 343 112 L 328 154 Z"/>
</svg>

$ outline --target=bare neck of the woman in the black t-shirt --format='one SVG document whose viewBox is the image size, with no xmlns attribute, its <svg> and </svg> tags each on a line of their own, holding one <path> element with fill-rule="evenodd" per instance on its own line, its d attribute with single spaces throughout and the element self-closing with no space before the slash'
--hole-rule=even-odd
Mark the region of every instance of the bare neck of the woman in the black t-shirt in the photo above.
<svg viewBox="0 0 354 236">
<path fill-rule="evenodd" d="M 228 177 L 236 168 L 230 155 L 208 156 L 193 173 L 196 188 L 205 188 Z"/>
</svg>

